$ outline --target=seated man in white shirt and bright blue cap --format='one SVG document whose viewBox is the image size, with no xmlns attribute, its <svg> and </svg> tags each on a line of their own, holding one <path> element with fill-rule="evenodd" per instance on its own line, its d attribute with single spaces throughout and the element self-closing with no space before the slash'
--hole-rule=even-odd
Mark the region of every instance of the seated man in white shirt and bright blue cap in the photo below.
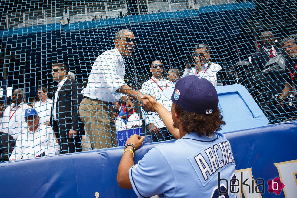
<svg viewBox="0 0 297 198">
<path fill-rule="evenodd" d="M 28 127 L 23 129 L 15 143 L 15 149 L 9 157 L 10 161 L 30 159 L 48 155 L 57 155 L 61 149 L 54 138 L 51 126 L 40 125 L 35 109 L 25 111 Z"/>
</svg>

